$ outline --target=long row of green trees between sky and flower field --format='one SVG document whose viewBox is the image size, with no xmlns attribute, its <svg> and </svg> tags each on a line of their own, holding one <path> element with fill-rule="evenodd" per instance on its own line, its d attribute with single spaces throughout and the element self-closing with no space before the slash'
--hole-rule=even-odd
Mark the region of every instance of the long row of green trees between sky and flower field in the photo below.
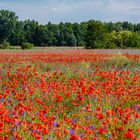
<svg viewBox="0 0 140 140">
<path fill-rule="evenodd" d="M 82 23 L 42 25 L 35 20 L 20 21 L 9 10 L 0 10 L 0 43 L 21 45 L 29 42 L 35 46 L 86 46 L 86 48 L 140 47 L 140 23 L 101 22 L 89 20 Z"/>
</svg>

